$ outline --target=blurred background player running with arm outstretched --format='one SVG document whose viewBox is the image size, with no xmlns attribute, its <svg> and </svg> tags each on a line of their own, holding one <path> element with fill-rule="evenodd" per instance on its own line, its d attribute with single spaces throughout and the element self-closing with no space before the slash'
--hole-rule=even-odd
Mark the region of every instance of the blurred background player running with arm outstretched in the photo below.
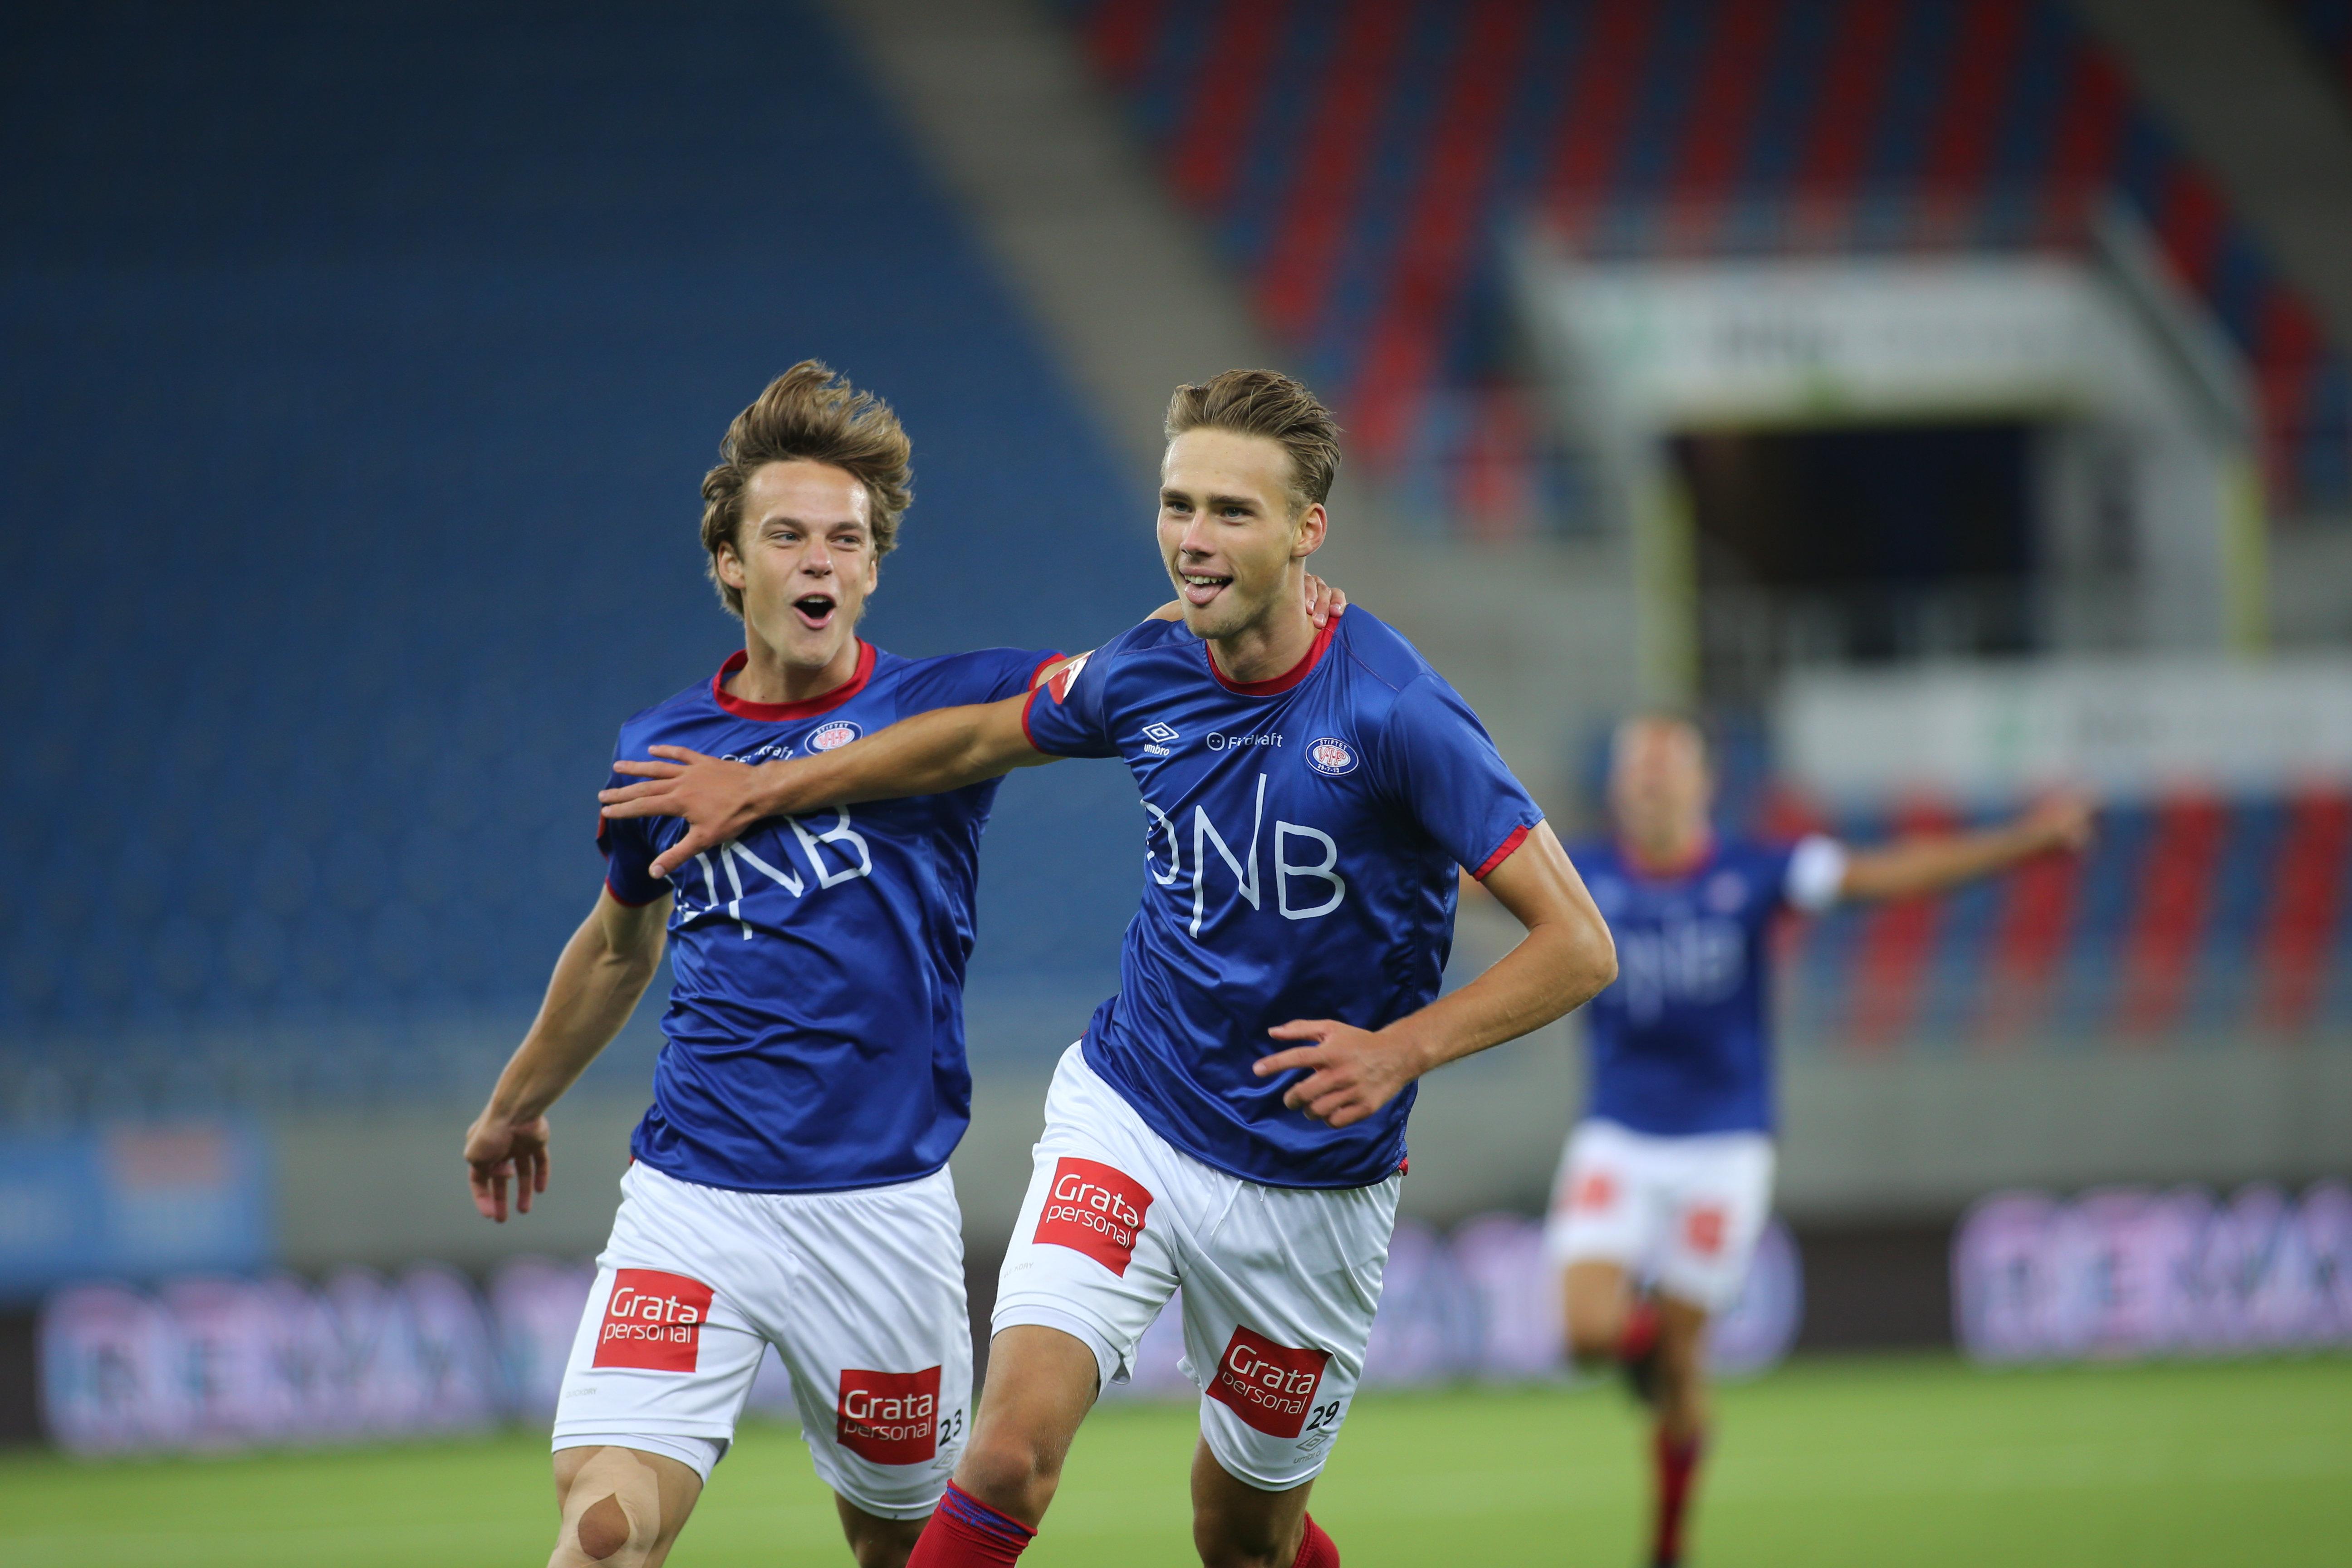
<svg viewBox="0 0 2352 1568">
<path fill-rule="evenodd" d="M 1651 715 L 1618 729 L 1616 839 L 1576 851 L 1616 936 L 1618 980 L 1585 1011 L 1592 1088 L 1545 1232 L 1566 1269 L 1571 1354 L 1616 1359 L 1658 1415 L 1661 1568 L 1682 1561 L 1708 1420 L 1708 1319 L 1738 1298 L 1771 1213 L 1773 917 L 1938 893 L 2091 837 L 2091 809 L 2053 799 L 2006 827 L 1870 851 L 1818 835 L 1724 842 L 1712 792 L 1696 724 Z"/>
</svg>

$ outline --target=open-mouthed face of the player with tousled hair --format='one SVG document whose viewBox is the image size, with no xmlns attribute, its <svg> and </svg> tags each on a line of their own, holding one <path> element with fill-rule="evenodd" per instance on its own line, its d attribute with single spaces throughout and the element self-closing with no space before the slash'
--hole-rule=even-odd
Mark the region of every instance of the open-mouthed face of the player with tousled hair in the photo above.
<svg viewBox="0 0 2352 1568">
<path fill-rule="evenodd" d="M 715 569 L 743 595 L 750 637 L 788 668 L 823 670 L 856 642 L 880 578 L 873 496 L 833 463 L 767 463 Z"/>
</svg>

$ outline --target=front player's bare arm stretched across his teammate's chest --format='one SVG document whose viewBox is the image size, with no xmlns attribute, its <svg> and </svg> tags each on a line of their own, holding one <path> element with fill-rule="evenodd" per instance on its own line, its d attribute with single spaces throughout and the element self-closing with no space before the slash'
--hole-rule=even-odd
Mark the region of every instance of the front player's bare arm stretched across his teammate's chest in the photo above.
<svg viewBox="0 0 2352 1568">
<path fill-rule="evenodd" d="M 668 877 L 713 844 L 743 837 L 760 818 L 800 816 L 861 799 L 938 795 L 969 783 L 1061 762 L 1028 743 L 1021 712 L 1028 693 L 1000 703 L 934 708 L 898 719 L 863 741 L 788 762 L 722 762 L 682 745 L 654 745 L 656 762 L 614 762 L 616 773 L 642 783 L 602 790 L 604 816 L 677 816 L 687 837 L 649 867 Z"/>
</svg>

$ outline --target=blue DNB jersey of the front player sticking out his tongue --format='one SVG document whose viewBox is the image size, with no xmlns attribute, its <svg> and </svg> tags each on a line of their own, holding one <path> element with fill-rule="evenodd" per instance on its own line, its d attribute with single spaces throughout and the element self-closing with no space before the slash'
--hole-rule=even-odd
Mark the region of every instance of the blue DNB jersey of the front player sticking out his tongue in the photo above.
<svg viewBox="0 0 2352 1568">
<path fill-rule="evenodd" d="M 1284 677 L 1237 684 L 1183 623 L 1145 621 L 1030 693 L 1030 743 L 1124 757 L 1143 790 L 1143 907 L 1087 1065 L 1162 1138 L 1279 1187 L 1364 1187 L 1404 1159 L 1406 1088 L 1329 1128 L 1268 1030 L 1378 1030 L 1437 997 L 1456 865 L 1494 870 L 1541 820 L 1477 715 L 1362 609 Z"/>
</svg>

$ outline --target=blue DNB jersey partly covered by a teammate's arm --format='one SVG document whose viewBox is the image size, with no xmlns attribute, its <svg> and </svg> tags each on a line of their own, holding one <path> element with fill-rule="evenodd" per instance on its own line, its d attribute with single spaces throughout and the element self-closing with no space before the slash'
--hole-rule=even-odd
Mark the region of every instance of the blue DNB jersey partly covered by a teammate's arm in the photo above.
<svg viewBox="0 0 2352 1568">
<path fill-rule="evenodd" d="M 927 708 L 1018 696 L 1051 654 L 908 661 L 858 644 L 856 675 L 809 703 L 706 684 L 621 726 L 616 757 L 687 745 L 767 762 L 847 745 Z M 630 783 L 614 776 L 614 783 Z M 637 1159 L 708 1187 L 835 1192 L 929 1175 L 971 1121 L 964 961 L 981 827 L 997 780 L 769 818 L 647 875 L 677 818 L 602 818 L 612 896 L 670 907 L 670 1011 Z"/>
</svg>

